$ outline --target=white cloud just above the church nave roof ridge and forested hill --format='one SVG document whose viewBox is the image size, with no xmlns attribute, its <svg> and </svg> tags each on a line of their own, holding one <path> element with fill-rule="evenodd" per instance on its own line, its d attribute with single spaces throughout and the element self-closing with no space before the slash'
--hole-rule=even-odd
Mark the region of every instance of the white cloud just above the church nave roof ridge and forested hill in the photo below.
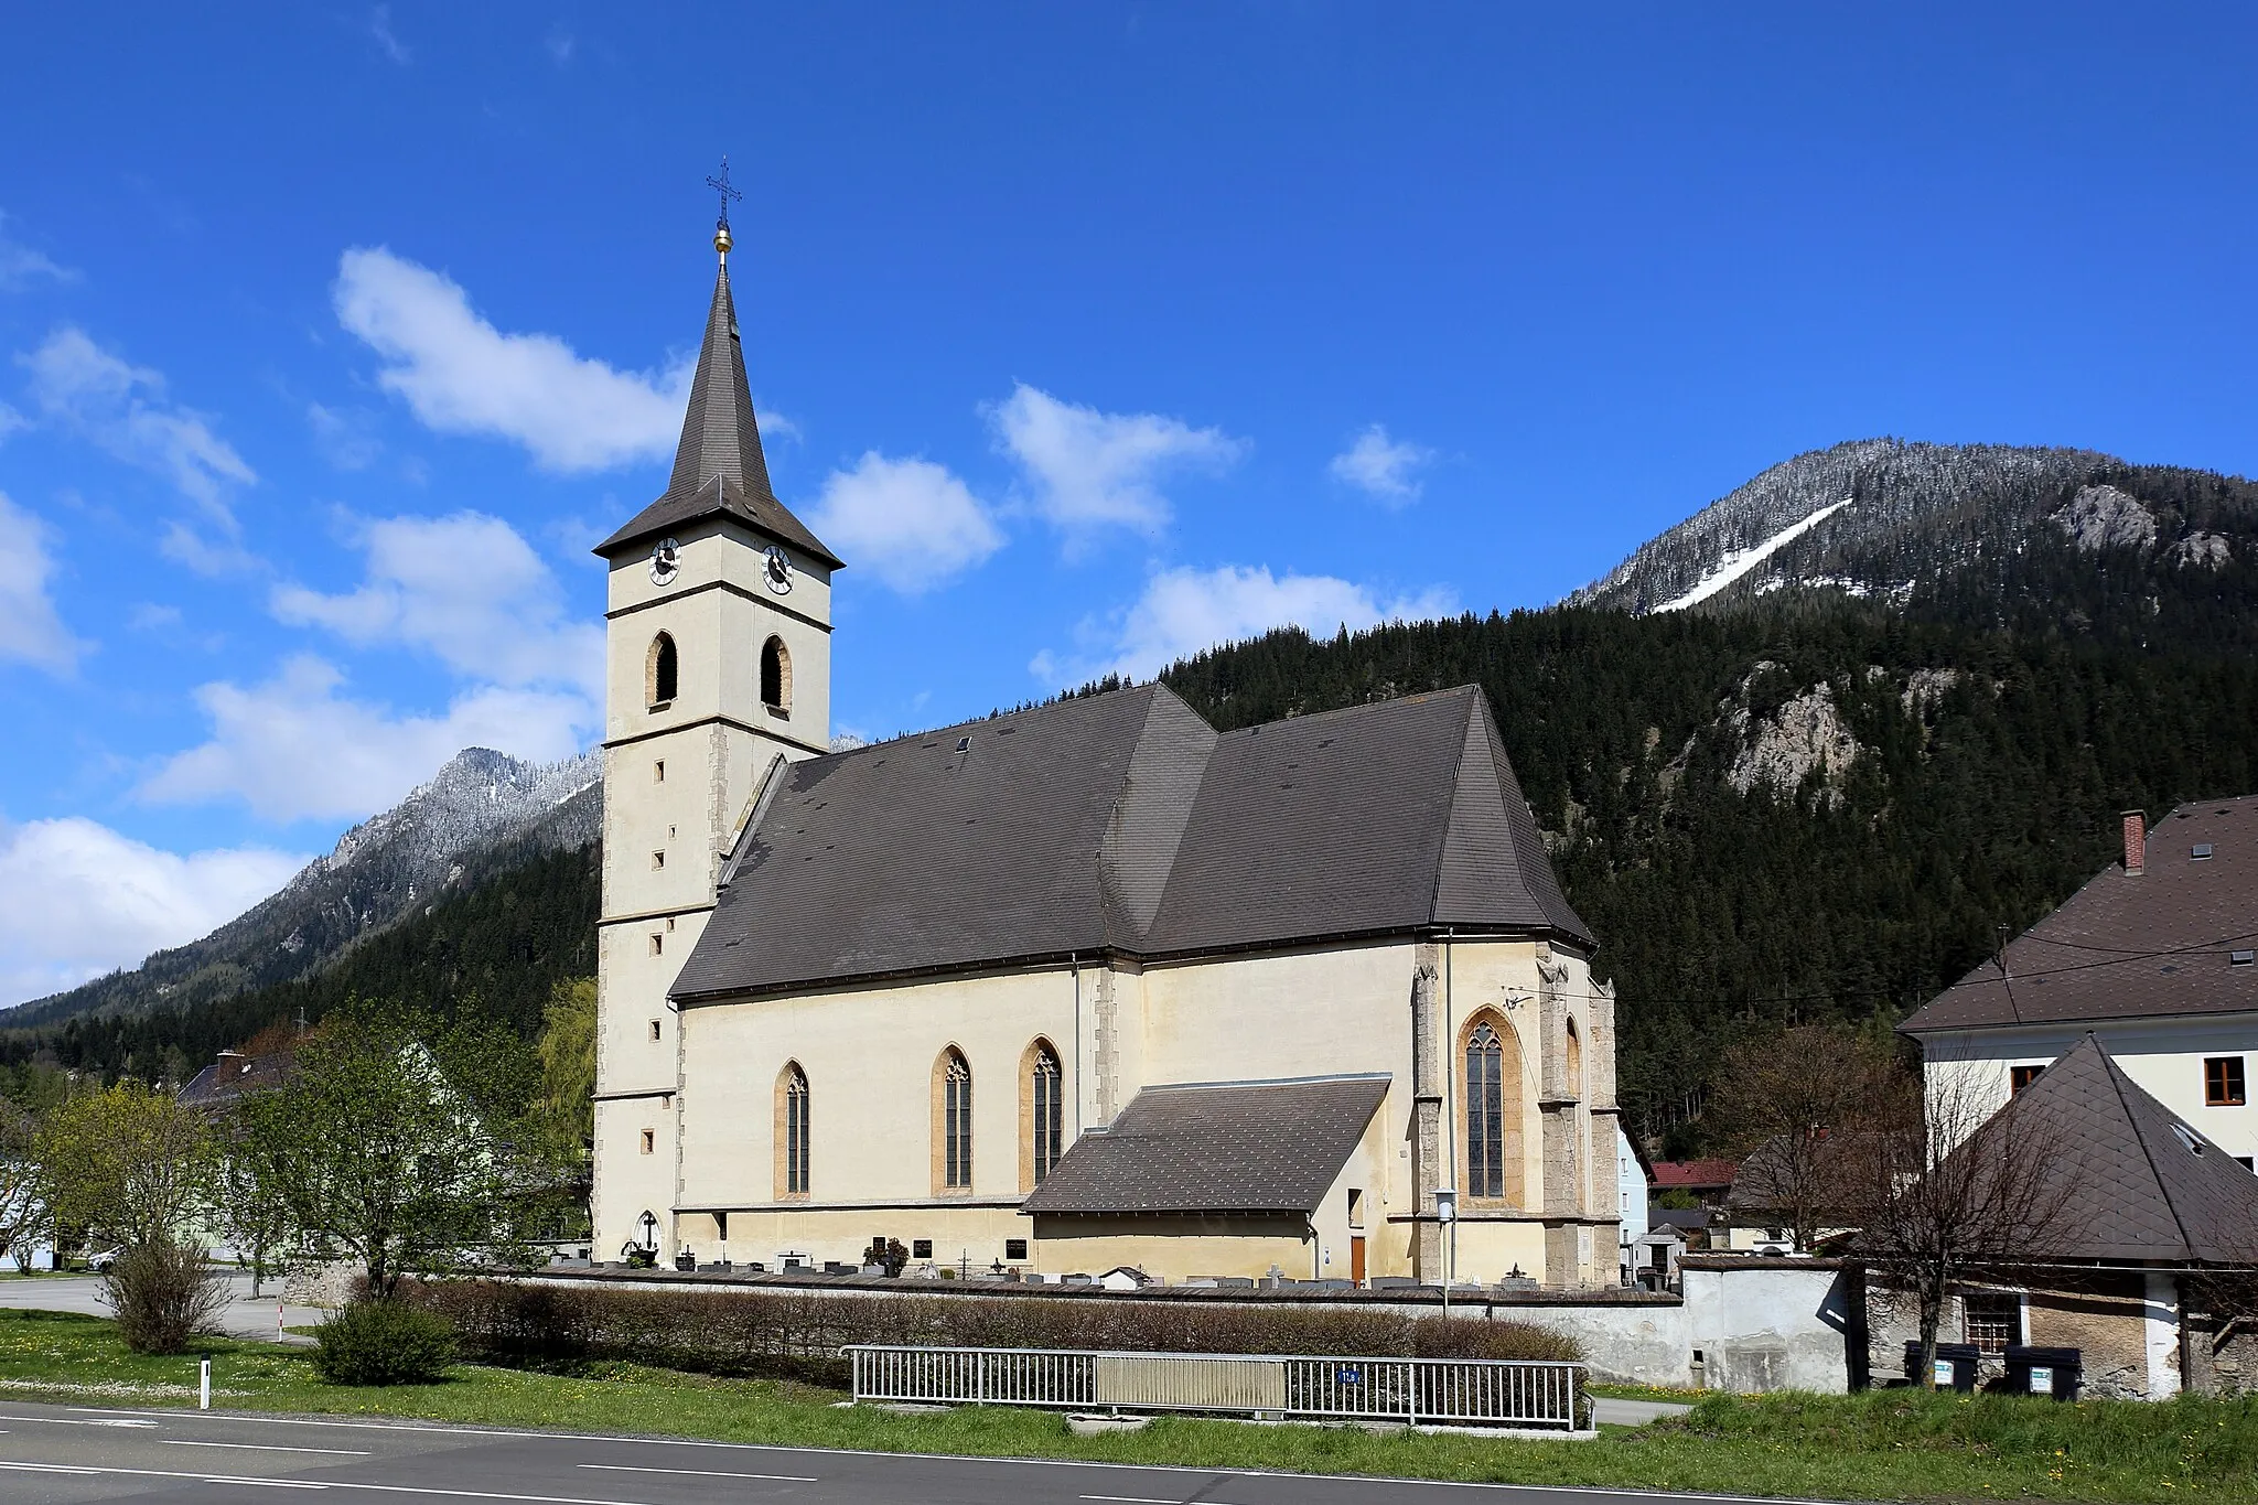
<svg viewBox="0 0 2258 1505">
<path fill-rule="evenodd" d="M 1068 686 L 1106 672 L 1149 679 L 1176 659 L 1217 643 L 1262 636 L 1271 627 L 1301 627 L 1330 636 L 1341 627 L 1359 632 L 1386 621 L 1420 621 L 1456 611 L 1443 587 L 1382 602 L 1362 584 L 1332 575 L 1271 575 L 1264 566 L 1170 569 L 1145 582 L 1111 634 L 1095 627 L 1086 639 L 1111 636 L 1097 654 L 1061 659 L 1043 650 L 1027 666 L 1039 679 Z"/>
</svg>

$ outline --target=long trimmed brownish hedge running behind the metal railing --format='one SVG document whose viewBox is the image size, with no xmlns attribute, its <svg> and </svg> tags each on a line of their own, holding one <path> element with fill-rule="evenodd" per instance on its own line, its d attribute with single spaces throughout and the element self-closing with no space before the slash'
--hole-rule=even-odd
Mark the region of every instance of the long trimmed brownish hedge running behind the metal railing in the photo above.
<svg viewBox="0 0 2258 1505">
<path fill-rule="evenodd" d="M 1407 1318 L 1355 1306 L 1213 1306 L 1143 1297 L 621 1291 L 510 1279 L 415 1279 L 400 1297 L 454 1327 L 461 1354 L 510 1367 L 625 1358 L 691 1374 L 847 1383 L 849 1343 L 1359 1358 L 1581 1358 L 1529 1322 Z"/>
</svg>

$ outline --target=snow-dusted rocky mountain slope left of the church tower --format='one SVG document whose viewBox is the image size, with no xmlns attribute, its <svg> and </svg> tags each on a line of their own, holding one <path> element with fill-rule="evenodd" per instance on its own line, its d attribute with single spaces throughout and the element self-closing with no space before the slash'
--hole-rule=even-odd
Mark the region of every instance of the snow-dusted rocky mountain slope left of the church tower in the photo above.
<svg viewBox="0 0 2258 1505">
<path fill-rule="evenodd" d="M 533 765 L 470 747 L 384 815 L 339 837 L 280 894 L 201 941 L 0 1013 L 0 1029 L 81 1013 L 192 1009 L 318 972 L 364 936 L 476 882 L 490 853 L 601 835 L 603 760 Z M 515 864 L 515 860 L 510 862 Z"/>
</svg>

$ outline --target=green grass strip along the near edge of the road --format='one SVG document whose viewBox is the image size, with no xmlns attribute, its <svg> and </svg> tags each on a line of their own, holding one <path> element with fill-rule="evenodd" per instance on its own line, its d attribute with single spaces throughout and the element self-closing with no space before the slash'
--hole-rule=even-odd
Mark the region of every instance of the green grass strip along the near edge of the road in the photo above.
<svg viewBox="0 0 2258 1505">
<path fill-rule="evenodd" d="M 1644 1485 L 1845 1500 L 2258 1500 L 2258 1399 L 2170 1406 L 2023 1397 L 1707 1397 L 1682 1419 L 1599 1442 L 1371 1435 L 1161 1417 L 1143 1433 L 1070 1437 L 1050 1412 L 964 1408 L 899 1417 L 829 1390 L 596 1365 L 531 1374 L 461 1365 L 443 1385 L 325 1385 L 305 1349 L 210 1340 L 183 1358 L 126 1352 L 111 1322 L 0 1311 L 0 1399 L 422 1417 L 492 1426 L 718 1437 L 890 1453 L 1093 1458 L 1208 1469 L 1386 1473 L 1526 1485 Z"/>
</svg>

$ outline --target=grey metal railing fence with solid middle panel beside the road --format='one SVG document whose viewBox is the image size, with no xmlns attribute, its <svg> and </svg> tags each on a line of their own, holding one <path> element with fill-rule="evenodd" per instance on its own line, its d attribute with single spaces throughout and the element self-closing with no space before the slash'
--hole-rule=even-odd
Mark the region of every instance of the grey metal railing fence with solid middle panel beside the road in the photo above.
<svg viewBox="0 0 2258 1505">
<path fill-rule="evenodd" d="M 939 1349 L 858 1343 L 858 1401 L 1233 1410 L 1341 1422 L 1574 1431 L 1583 1365 L 1535 1358 L 1314 1358 Z"/>
</svg>

